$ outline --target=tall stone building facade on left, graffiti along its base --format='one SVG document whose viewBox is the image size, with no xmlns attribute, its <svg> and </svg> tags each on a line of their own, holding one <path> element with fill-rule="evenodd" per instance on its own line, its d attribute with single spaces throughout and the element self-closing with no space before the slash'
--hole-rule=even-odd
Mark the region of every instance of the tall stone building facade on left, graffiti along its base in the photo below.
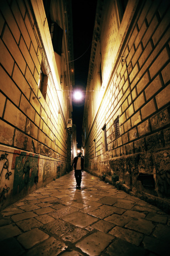
<svg viewBox="0 0 170 256">
<path fill-rule="evenodd" d="M 70 169 L 69 0 L 1 1 L 0 207 Z"/>
</svg>

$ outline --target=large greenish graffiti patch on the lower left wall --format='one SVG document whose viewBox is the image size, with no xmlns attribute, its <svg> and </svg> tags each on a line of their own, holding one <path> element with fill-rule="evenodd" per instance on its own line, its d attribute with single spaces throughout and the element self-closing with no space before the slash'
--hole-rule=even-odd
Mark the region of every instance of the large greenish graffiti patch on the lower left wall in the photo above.
<svg viewBox="0 0 170 256">
<path fill-rule="evenodd" d="M 16 157 L 13 195 L 20 193 L 23 189 L 29 190 L 38 176 L 38 156 L 22 152 Z"/>
</svg>

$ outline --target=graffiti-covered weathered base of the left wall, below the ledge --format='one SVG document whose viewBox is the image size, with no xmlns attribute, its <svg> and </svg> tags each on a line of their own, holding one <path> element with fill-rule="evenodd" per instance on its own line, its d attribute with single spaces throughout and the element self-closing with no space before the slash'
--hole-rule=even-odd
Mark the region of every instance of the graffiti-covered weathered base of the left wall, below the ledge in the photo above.
<svg viewBox="0 0 170 256">
<path fill-rule="evenodd" d="M 64 175 L 68 168 L 63 161 L 1 146 L 0 209 Z"/>
</svg>

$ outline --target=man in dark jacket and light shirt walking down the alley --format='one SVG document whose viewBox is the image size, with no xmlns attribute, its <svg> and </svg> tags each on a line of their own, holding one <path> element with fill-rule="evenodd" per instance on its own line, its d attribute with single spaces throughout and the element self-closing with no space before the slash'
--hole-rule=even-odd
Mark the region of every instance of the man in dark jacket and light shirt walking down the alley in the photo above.
<svg viewBox="0 0 170 256">
<path fill-rule="evenodd" d="M 77 187 L 81 187 L 81 171 L 84 169 L 84 159 L 81 157 L 81 151 L 78 153 L 78 156 L 74 158 L 72 166 L 74 166 L 74 176 L 77 183 Z"/>
</svg>

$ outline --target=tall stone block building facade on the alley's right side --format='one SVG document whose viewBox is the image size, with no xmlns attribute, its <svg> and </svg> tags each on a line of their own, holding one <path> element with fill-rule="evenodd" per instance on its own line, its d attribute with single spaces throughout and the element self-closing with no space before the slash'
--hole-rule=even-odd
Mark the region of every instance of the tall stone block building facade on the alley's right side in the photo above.
<svg viewBox="0 0 170 256">
<path fill-rule="evenodd" d="M 161 204 L 169 186 L 169 1 L 98 1 L 85 170 Z"/>
</svg>

